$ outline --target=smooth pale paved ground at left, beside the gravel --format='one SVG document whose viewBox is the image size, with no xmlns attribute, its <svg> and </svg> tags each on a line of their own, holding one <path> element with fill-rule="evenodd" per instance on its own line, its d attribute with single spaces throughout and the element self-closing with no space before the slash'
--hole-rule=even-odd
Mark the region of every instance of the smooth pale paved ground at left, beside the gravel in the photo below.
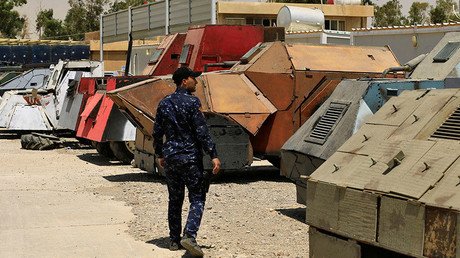
<svg viewBox="0 0 460 258">
<path fill-rule="evenodd" d="M 101 173 L 130 169 L 79 158 L 92 153 L 0 140 L 0 257 L 174 257 L 127 233 L 131 207 L 87 191 L 110 184 Z"/>
</svg>

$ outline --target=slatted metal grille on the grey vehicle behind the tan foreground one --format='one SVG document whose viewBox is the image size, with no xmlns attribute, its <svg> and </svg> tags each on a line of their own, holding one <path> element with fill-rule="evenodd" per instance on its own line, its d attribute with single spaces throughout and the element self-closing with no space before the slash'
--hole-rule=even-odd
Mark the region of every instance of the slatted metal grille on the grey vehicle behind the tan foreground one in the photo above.
<svg viewBox="0 0 460 258">
<path fill-rule="evenodd" d="M 329 108 L 313 126 L 306 141 L 323 145 L 339 123 L 340 119 L 342 119 L 348 106 L 349 104 L 331 102 Z"/>
</svg>

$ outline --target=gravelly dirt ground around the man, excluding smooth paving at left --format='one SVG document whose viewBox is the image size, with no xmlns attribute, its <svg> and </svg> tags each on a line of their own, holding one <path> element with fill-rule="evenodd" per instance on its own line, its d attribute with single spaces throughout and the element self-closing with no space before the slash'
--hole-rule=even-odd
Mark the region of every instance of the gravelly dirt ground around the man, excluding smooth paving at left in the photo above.
<svg viewBox="0 0 460 258">
<path fill-rule="evenodd" d="M 167 248 L 168 195 L 163 178 L 109 161 L 75 142 L 46 152 L 20 150 L 18 139 L 1 142 L 17 145 L 28 162 L 53 157 L 50 166 L 66 164 L 78 175 L 66 180 L 80 181 L 74 182 L 79 189 L 123 201 L 132 208 L 135 217 L 128 222 L 131 236 L 154 248 Z M 46 170 L 46 162 L 43 164 L 41 169 Z M 8 166 L 14 169 L 14 162 Z M 91 176 L 85 177 L 88 171 Z M 187 208 L 188 201 L 183 221 Z M 197 241 L 206 257 L 308 257 L 308 226 L 304 221 L 305 207 L 295 202 L 295 185 L 273 167 L 253 167 L 224 173 L 214 180 Z M 176 253 L 177 257 L 187 257 L 184 251 Z"/>
</svg>

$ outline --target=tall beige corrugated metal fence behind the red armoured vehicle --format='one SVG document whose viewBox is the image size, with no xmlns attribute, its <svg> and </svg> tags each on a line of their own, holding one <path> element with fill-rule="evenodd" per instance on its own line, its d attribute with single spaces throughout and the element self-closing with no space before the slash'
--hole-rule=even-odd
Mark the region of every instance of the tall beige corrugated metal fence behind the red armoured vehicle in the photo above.
<svg viewBox="0 0 460 258">
<path fill-rule="evenodd" d="M 165 0 L 103 15 L 103 42 L 185 32 L 191 25 L 215 23 L 216 0 Z"/>
</svg>

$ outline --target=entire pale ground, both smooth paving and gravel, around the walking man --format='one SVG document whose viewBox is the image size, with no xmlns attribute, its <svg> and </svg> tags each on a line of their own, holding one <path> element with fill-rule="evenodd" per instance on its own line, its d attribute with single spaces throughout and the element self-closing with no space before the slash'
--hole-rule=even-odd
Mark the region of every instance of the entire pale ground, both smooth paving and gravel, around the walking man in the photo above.
<svg viewBox="0 0 460 258">
<path fill-rule="evenodd" d="M 188 257 L 167 249 L 163 178 L 67 146 L 0 136 L 0 257 Z M 211 185 L 197 240 L 206 257 L 308 257 L 304 221 L 294 184 L 262 167 Z"/>
</svg>

